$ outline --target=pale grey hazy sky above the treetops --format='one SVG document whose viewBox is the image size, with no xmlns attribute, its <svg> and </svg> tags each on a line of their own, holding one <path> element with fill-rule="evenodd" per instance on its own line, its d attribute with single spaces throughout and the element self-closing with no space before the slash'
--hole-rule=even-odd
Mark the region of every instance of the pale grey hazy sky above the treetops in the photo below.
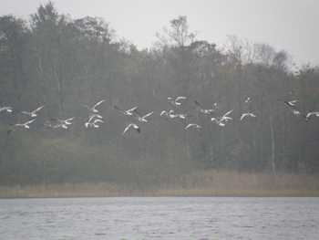
<svg viewBox="0 0 319 240">
<path fill-rule="evenodd" d="M 4 3 L 5 2 L 5 3 Z M 0 15 L 29 19 L 48 0 L 10 0 Z M 154 34 L 170 20 L 187 16 L 197 39 L 223 47 L 227 35 L 286 50 L 297 66 L 319 65 L 318 0 L 52 0 L 59 14 L 72 19 L 101 16 L 139 49 L 151 47 Z"/>
</svg>

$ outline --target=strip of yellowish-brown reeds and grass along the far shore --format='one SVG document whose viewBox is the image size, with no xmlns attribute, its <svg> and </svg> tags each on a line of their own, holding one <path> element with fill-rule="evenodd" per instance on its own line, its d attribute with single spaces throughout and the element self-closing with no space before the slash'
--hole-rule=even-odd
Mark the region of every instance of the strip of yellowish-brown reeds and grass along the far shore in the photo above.
<svg viewBox="0 0 319 240">
<path fill-rule="evenodd" d="M 168 183 L 64 183 L 0 187 L 0 198 L 98 196 L 319 196 L 319 177 L 290 173 L 208 171 L 192 172 Z"/>
</svg>

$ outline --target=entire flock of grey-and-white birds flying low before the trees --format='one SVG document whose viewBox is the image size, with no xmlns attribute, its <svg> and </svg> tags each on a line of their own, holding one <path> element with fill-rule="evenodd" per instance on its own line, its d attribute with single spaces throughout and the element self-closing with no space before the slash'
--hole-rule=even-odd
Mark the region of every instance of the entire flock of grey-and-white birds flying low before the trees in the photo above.
<svg viewBox="0 0 319 240">
<path fill-rule="evenodd" d="M 172 99 L 172 98 L 168 98 L 168 101 L 173 105 L 173 106 L 180 106 L 180 100 L 186 100 L 186 97 L 178 97 L 177 99 Z M 298 110 L 295 109 L 294 107 L 294 104 L 295 102 L 297 102 L 297 100 L 292 100 L 292 101 L 286 101 L 286 100 L 282 100 L 282 99 L 277 99 L 283 103 L 285 103 L 286 105 L 288 105 L 289 107 L 293 108 L 292 112 L 293 114 L 296 114 L 296 115 L 301 115 L 304 117 L 305 121 L 308 121 L 310 119 L 310 117 L 312 116 L 317 116 L 319 117 L 319 112 L 309 112 L 307 115 L 303 115 L 301 114 Z M 98 106 L 103 103 L 104 101 L 106 101 L 105 99 L 104 100 L 101 100 L 101 101 L 98 101 L 97 104 L 95 104 L 93 107 L 89 107 L 87 105 L 82 105 L 83 107 L 86 107 L 87 110 L 90 111 L 90 115 L 87 115 L 88 116 L 88 120 L 87 122 L 85 123 L 85 126 L 86 128 L 90 128 L 90 127 L 93 127 L 93 128 L 98 128 L 99 127 L 99 123 L 103 123 L 105 124 L 105 122 L 102 120 L 103 117 L 101 115 L 98 114 Z M 214 103 L 212 105 L 212 108 L 211 109 L 205 109 L 201 106 L 201 104 L 195 100 L 194 101 L 195 104 L 198 106 L 198 109 L 199 111 L 201 111 L 201 113 L 203 114 L 209 114 L 209 115 L 213 115 L 213 117 L 211 118 L 211 121 L 212 122 L 215 122 L 217 125 L 223 127 L 225 126 L 225 122 L 227 122 L 228 120 L 232 120 L 232 118 L 229 116 L 233 110 L 230 110 L 228 112 L 226 112 L 224 115 L 222 115 L 221 117 L 217 117 L 216 114 L 214 113 L 215 110 L 218 110 L 219 108 L 217 107 L 217 104 Z M 245 103 L 247 104 L 251 104 L 252 103 L 252 100 L 250 98 L 247 98 L 245 100 Z M 37 117 L 37 112 L 41 109 L 43 109 L 45 107 L 45 105 L 37 108 L 36 110 L 34 111 L 31 111 L 31 112 L 27 112 L 27 111 L 18 111 L 18 112 L 21 112 L 21 113 L 24 113 L 28 116 L 30 116 L 31 118 L 33 118 L 32 120 L 28 120 L 26 121 L 25 123 L 16 123 L 16 124 L 10 124 L 12 126 L 16 126 L 16 127 L 25 127 L 26 129 L 29 129 L 30 128 L 30 124 L 32 122 L 34 122 Z M 151 111 L 149 112 L 148 114 L 142 116 L 139 114 L 139 111 L 137 110 L 138 107 L 135 107 L 133 109 L 130 109 L 130 110 L 121 110 L 119 109 L 117 106 L 114 105 L 114 108 L 116 110 L 118 110 L 119 112 L 123 113 L 124 115 L 128 115 L 128 116 L 131 116 L 133 114 L 136 115 L 136 119 L 139 120 L 139 121 L 142 121 L 142 122 L 147 122 L 147 118 L 154 113 L 154 111 Z M 0 112 L 2 111 L 8 111 L 8 112 L 12 112 L 13 109 L 11 107 L 0 107 Z M 180 118 L 180 119 L 187 119 L 188 116 L 187 114 L 176 114 L 174 110 L 170 110 L 170 111 L 166 111 L 166 110 L 163 110 L 161 111 L 160 113 L 160 117 L 163 117 L 165 116 L 166 119 L 175 119 L 175 118 Z M 251 112 L 247 112 L 247 113 L 242 113 L 242 117 L 240 118 L 240 120 L 243 120 L 244 118 L 246 117 L 250 117 L 250 118 L 256 118 L 256 116 L 254 114 L 252 114 Z M 46 121 L 45 123 L 42 123 L 41 125 L 44 125 L 47 129 L 55 129 L 55 128 L 63 128 L 63 129 L 67 129 L 67 127 L 69 125 L 71 125 L 73 122 L 71 122 L 71 120 L 74 120 L 76 117 L 73 117 L 73 118 L 70 118 L 70 119 L 67 119 L 67 120 L 56 120 L 56 119 L 50 119 L 50 120 L 54 120 L 54 121 L 57 121 L 57 125 L 53 126 L 51 124 L 50 121 Z M 197 130 L 201 130 L 201 126 L 196 124 L 196 123 L 190 123 L 188 124 L 186 127 L 185 127 L 185 130 L 188 130 L 189 128 L 195 128 Z M 137 130 L 139 133 L 140 133 L 140 129 L 139 129 L 139 126 L 135 123 L 128 123 L 127 124 L 127 127 L 126 129 L 123 131 L 122 135 L 124 135 L 129 129 L 135 129 Z M 7 130 L 7 134 L 10 134 L 11 131 L 13 131 L 14 129 L 8 129 Z M 201 135 L 201 133 L 200 133 Z"/>
</svg>

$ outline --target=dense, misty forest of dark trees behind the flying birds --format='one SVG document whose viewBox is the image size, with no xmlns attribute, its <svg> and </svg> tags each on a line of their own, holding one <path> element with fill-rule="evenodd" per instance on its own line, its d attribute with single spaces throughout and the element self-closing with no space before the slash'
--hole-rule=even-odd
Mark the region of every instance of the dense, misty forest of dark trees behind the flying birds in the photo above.
<svg viewBox="0 0 319 240">
<path fill-rule="evenodd" d="M 104 19 L 72 19 L 52 2 L 27 21 L 0 16 L 0 107 L 12 108 L 0 112 L 0 185 L 144 187 L 211 169 L 319 173 L 319 113 L 308 115 L 319 111 L 319 68 L 297 68 L 266 43 L 199 40 L 186 16 L 168 24 L 139 51 Z M 102 100 L 100 121 L 86 124 L 83 105 Z M 41 106 L 36 117 L 25 113 Z M 138 108 L 125 115 L 114 106 Z M 140 133 L 123 134 L 129 123 Z"/>
</svg>

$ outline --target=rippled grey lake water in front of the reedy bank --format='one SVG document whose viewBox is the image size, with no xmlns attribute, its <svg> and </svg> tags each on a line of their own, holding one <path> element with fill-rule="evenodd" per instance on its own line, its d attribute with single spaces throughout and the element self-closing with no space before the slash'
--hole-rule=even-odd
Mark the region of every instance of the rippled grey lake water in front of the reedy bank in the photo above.
<svg viewBox="0 0 319 240">
<path fill-rule="evenodd" d="M 316 197 L 0 199 L 0 239 L 318 239 Z"/>
</svg>

